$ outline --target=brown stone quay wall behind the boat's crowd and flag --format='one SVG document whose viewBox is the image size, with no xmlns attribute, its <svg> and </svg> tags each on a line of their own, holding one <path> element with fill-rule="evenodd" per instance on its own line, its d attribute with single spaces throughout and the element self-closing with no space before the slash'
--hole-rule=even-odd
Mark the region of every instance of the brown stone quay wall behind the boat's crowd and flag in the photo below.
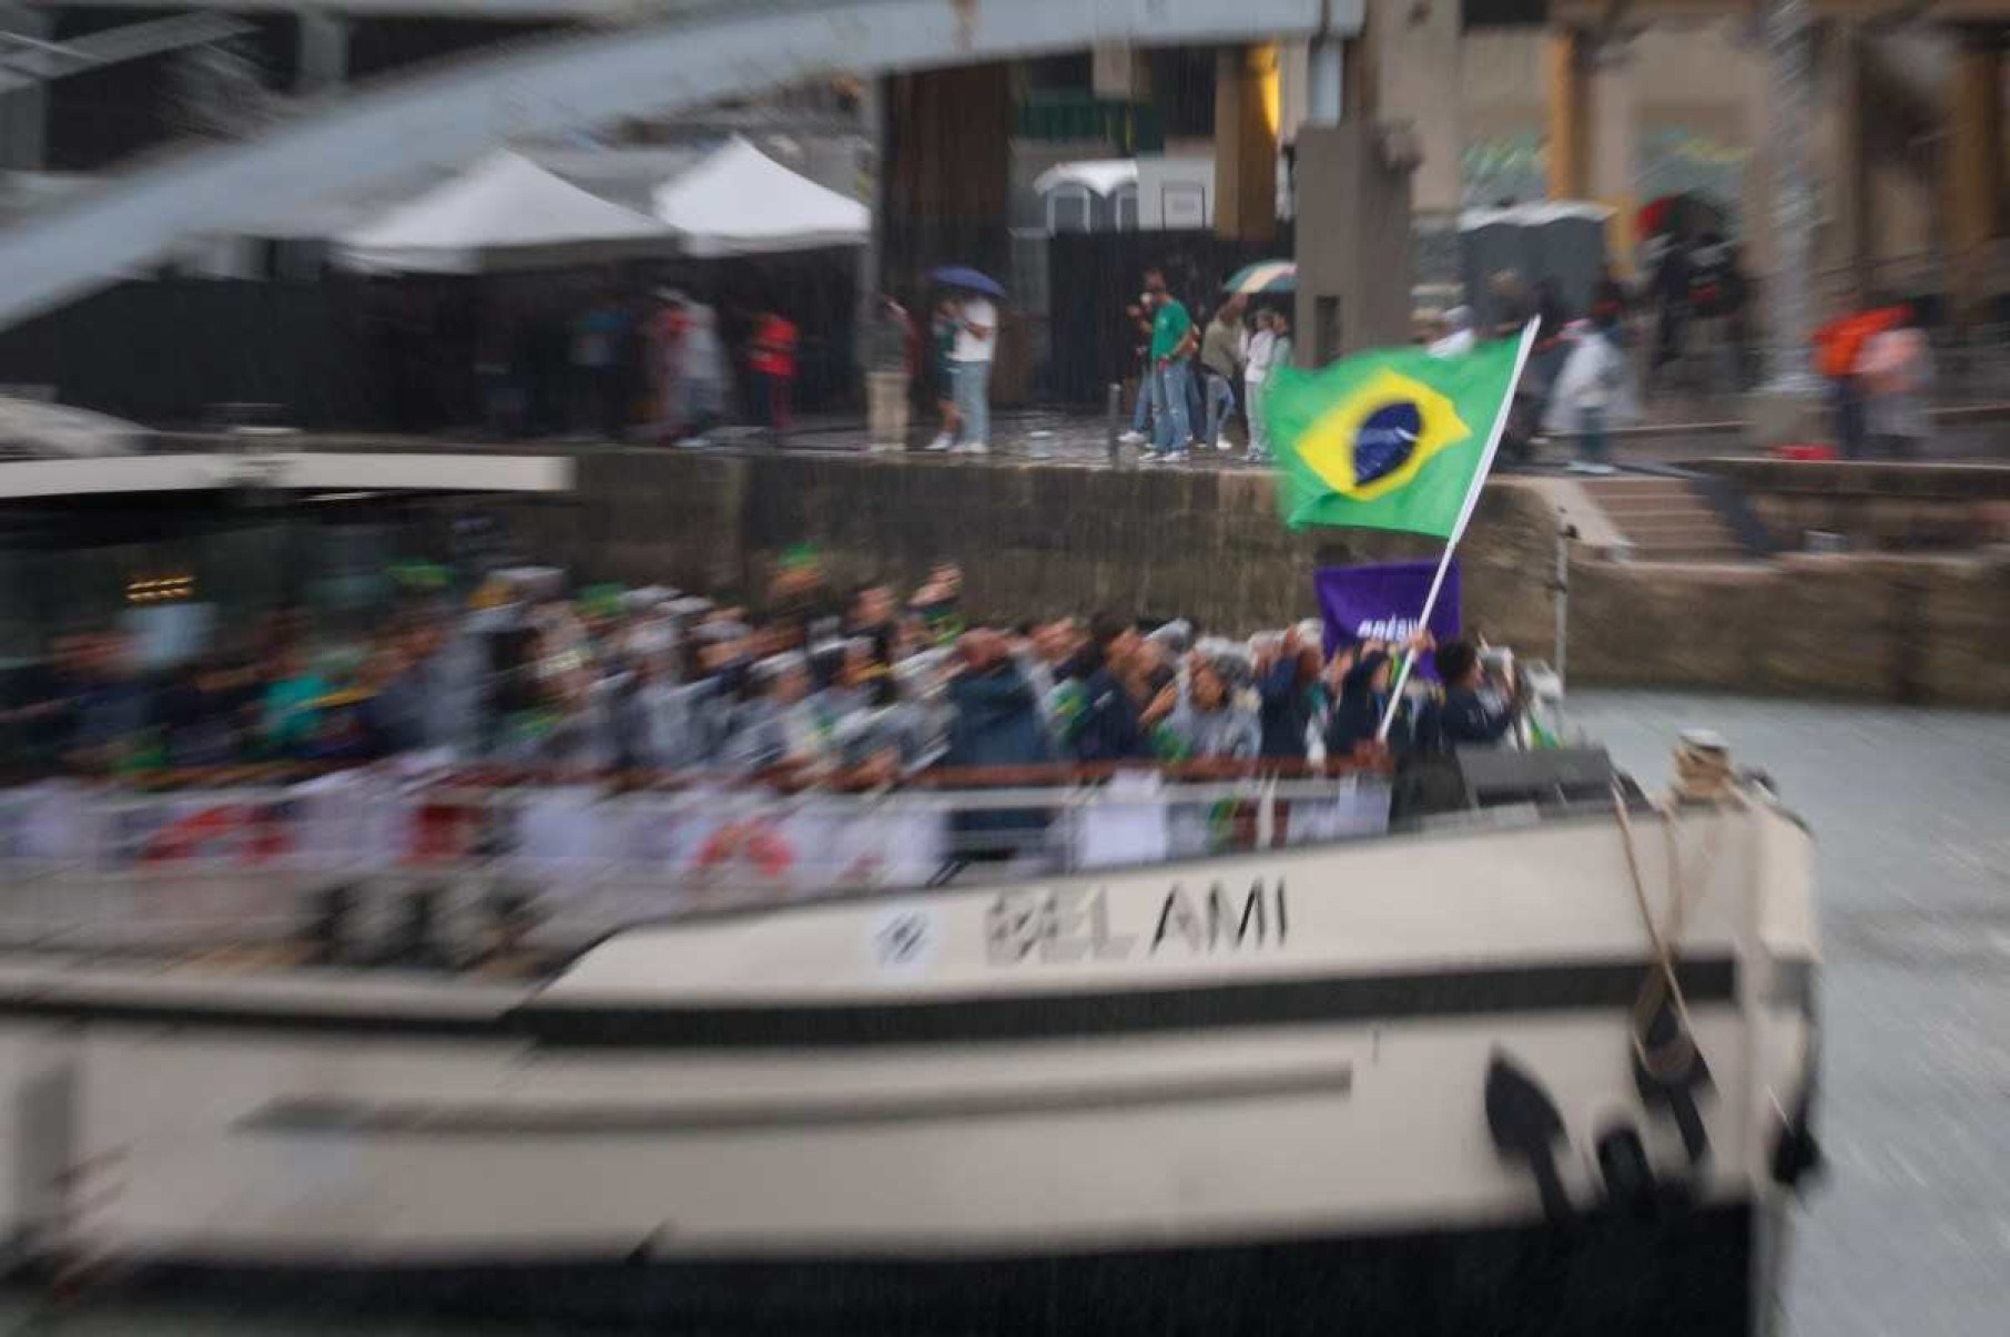
<svg viewBox="0 0 2010 1337">
<path fill-rule="evenodd" d="M 836 580 L 963 562 L 975 614 L 1188 614 L 1224 632 L 1313 616 L 1323 562 L 1431 556 L 1403 534 L 1292 534 L 1268 476 L 939 460 L 579 456 L 571 498 L 507 502 L 529 554 L 579 576 L 756 590 L 810 542 Z M 1554 518 L 1487 486 L 1461 548 L 1465 622 L 1550 654 Z M 1572 564 L 1572 683 L 2010 707 L 2010 550 Z"/>
</svg>

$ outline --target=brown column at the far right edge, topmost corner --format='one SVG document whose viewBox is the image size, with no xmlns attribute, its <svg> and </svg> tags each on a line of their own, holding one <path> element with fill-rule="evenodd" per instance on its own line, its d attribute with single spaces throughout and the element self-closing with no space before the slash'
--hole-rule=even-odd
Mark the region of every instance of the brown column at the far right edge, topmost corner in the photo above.
<svg viewBox="0 0 2010 1337">
<path fill-rule="evenodd" d="M 2002 52 L 1994 34 L 1964 30 L 1948 98 L 1946 237 L 1948 291 L 1958 315 L 1982 313 L 2002 223 L 2004 128 Z"/>
</svg>

